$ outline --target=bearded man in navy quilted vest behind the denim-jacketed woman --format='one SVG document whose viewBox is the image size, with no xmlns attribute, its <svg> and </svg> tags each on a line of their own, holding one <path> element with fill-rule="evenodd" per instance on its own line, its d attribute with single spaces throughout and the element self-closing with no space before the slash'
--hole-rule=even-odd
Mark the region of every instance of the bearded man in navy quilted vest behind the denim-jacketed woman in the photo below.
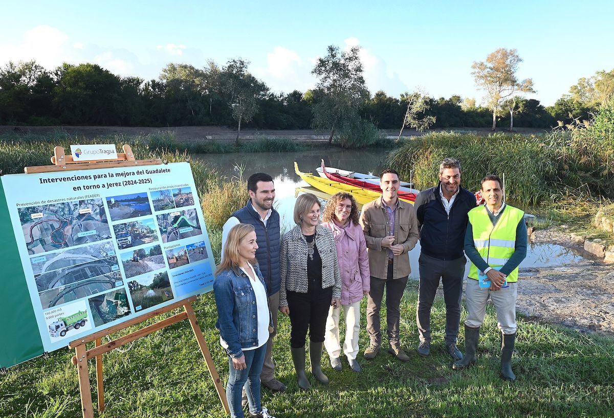
<svg viewBox="0 0 614 418">
<path fill-rule="evenodd" d="M 275 379 L 275 363 L 271 357 L 273 337 L 277 333 L 277 316 L 279 312 L 279 213 L 273 209 L 275 186 L 273 178 L 265 173 L 252 174 L 247 180 L 249 200 L 246 205 L 233 213 L 223 226 L 223 246 L 228 231 L 236 224 L 250 224 L 256 231 L 258 249 L 256 260 L 266 283 L 269 310 L 273 315 L 273 333 L 266 343 L 265 363 L 260 374 L 263 386 L 273 392 L 283 392 L 286 386 Z"/>
</svg>

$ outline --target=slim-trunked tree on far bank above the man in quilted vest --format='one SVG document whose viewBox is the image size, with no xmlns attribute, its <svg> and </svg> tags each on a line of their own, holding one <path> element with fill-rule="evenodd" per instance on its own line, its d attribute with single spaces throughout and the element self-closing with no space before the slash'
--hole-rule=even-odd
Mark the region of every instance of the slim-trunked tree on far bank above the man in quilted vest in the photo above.
<svg viewBox="0 0 614 418">
<path fill-rule="evenodd" d="M 220 73 L 221 85 L 228 94 L 228 105 L 232 116 L 238 122 L 236 142 L 241 134 L 241 122 L 249 122 L 258 112 L 258 101 L 268 91 L 265 83 L 247 72 L 249 62 L 243 59 L 231 59 Z"/>
</svg>

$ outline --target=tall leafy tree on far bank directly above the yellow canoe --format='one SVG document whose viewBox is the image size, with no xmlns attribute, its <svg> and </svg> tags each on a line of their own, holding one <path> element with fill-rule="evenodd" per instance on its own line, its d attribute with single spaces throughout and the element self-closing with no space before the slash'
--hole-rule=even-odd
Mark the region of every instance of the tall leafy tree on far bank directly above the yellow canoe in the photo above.
<svg viewBox="0 0 614 418">
<path fill-rule="evenodd" d="M 356 124 L 360 119 L 360 107 L 369 96 L 359 50 L 359 47 L 352 47 L 341 52 L 338 47 L 330 45 L 327 55 L 318 58 L 311 71 L 319 78 L 316 89 L 321 92 L 313 108 L 313 126 L 330 129 L 328 143 L 332 143 L 336 127 Z"/>
</svg>

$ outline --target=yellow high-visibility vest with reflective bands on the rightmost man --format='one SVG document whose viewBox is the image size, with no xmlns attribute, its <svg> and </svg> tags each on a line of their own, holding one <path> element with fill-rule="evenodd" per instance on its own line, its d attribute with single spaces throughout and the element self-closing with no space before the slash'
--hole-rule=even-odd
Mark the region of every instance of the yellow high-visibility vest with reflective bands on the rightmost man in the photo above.
<svg viewBox="0 0 614 418">
<path fill-rule="evenodd" d="M 524 218 L 524 212 L 510 205 L 505 205 L 503 213 L 495 226 L 488 216 L 486 205 L 473 208 L 468 213 L 473 229 L 473 245 L 490 267 L 500 267 L 507 263 L 516 247 L 516 228 Z M 469 277 L 478 279 L 478 267 L 471 264 Z M 507 276 L 508 282 L 518 281 L 518 267 Z"/>
</svg>

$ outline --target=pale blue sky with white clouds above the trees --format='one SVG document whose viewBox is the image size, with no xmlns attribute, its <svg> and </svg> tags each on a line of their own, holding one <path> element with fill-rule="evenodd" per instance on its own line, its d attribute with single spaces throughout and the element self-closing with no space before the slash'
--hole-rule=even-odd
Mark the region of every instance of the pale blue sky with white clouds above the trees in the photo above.
<svg viewBox="0 0 614 418">
<path fill-rule="evenodd" d="M 328 45 L 362 47 L 367 87 L 398 97 L 475 97 L 473 61 L 516 48 L 519 78 L 551 105 L 580 77 L 614 69 L 612 1 L 4 1 L 0 66 L 91 62 L 158 78 L 167 63 L 251 61 L 274 91 L 305 91 Z M 610 28 L 610 29 L 607 29 Z"/>
</svg>

